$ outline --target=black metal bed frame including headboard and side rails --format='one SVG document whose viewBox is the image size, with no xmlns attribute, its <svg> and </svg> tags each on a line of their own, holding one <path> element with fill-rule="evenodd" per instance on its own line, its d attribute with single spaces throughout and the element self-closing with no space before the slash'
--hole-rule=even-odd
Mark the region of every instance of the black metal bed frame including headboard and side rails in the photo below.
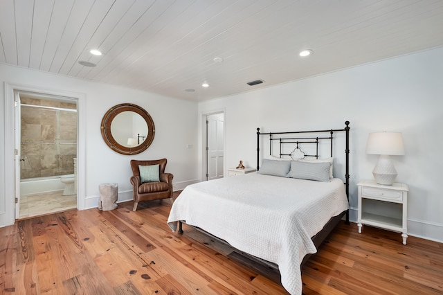
<svg viewBox="0 0 443 295">
<path fill-rule="evenodd" d="M 301 147 L 305 145 L 315 145 L 315 154 L 305 154 L 302 152 L 304 157 L 315 157 L 318 159 L 318 147 L 320 146 L 321 142 L 329 141 L 330 145 L 330 157 L 333 156 L 333 147 L 334 147 L 334 133 L 336 132 L 345 132 L 345 141 L 346 141 L 346 147 L 345 147 L 345 190 L 346 190 L 346 197 L 349 202 L 349 121 L 345 122 L 345 128 L 343 129 L 325 129 L 325 130 L 314 130 L 314 131 L 296 131 L 296 132 L 267 132 L 267 133 L 260 133 L 260 128 L 257 128 L 257 171 L 260 170 L 260 136 L 267 135 L 269 136 L 269 155 L 273 155 L 273 141 L 278 141 L 280 146 L 280 151 L 278 152 L 278 156 L 281 158 L 282 156 L 290 156 L 293 154 L 293 152 L 302 152 Z M 329 134 L 325 136 L 324 134 Z M 284 146 L 291 144 L 292 146 L 295 145 L 295 148 L 292 153 L 290 154 L 284 154 Z M 345 224 L 350 224 L 349 222 L 349 209 L 346 211 L 343 211 L 341 214 L 332 217 L 327 224 L 323 227 L 321 231 L 319 231 L 314 237 L 311 238 L 311 240 L 314 242 L 316 248 L 320 246 L 320 244 L 327 238 L 329 233 L 332 232 L 332 230 L 336 227 L 338 222 L 342 220 L 343 216 L 345 216 Z M 179 233 L 183 233 L 182 224 L 185 222 L 180 221 L 179 222 Z M 188 225 L 190 226 L 190 225 Z M 222 242 L 224 244 L 228 244 L 225 240 L 222 240 L 215 235 L 212 235 L 208 233 L 207 231 L 204 231 L 203 229 L 200 229 L 197 226 L 191 226 L 192 228 L 196 229 L 197 231 L 200 231 L 201 233 L 204 233 L 208 235 L 210 238 L 213 238 L 215 240 L 218 240 L 219 242 Z M 228 244 L 230 246 L 230 244 Z M 232 247 L 232 246 L 230 246 Z M 264 263 L 265 265 L 268 265 L 269 267 L 273 267 L 275 269 L 278 269 L 278 266 L 266 261 L 262 260 L 260 258 L 257 258 L 255 256 L 251 256 L 248 253 L 244 253 L 243 251 L 237 251 L 238 253 L 242 253 L 242 255 L 247 256 L 248 258 L 251 258 L 252 260 Z M 302 260 L 303 265 L 311 256 L 311 254 L 307 254 L 305 258 Z"/>
</svg>

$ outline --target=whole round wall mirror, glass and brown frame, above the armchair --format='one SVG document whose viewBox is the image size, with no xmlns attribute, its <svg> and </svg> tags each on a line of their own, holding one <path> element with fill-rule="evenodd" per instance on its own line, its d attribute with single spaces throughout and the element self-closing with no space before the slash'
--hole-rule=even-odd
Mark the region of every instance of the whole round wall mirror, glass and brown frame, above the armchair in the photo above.
<svg viewBox="0 0 443 295">
<path fill-rule="evenodd" d="M 102 137 L 120 154 L 139 154 L 154 140 L 154 120 L 138 105 L 123 103 L 111 107 L 102 119 Z"/>
</svg>

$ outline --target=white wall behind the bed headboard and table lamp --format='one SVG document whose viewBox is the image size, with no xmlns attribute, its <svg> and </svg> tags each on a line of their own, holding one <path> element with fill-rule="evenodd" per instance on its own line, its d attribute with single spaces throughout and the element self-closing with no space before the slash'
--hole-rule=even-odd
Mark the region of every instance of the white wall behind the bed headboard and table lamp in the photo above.
<svg viewBox="0 0 443 295">
<path fill-rule="evenodd" d="M 235 167 L 239 159 L 245 166 L 256 166 L 257 127 L 262 132 L 338 129 L 350 120 L 353 221 L 356 184 L 361 179 L 372 179 L 378 157 L 365 154 L 368 133 L 402 132 L 406 155 L 392 158 L 397 181 L 410 188 L 408 231 L 410 235 L 443 242 L 442 77 L 443 48 L 436 48 L 202 102 L 199 114 L 225 109 L 228 168 Z"/>
</svg>

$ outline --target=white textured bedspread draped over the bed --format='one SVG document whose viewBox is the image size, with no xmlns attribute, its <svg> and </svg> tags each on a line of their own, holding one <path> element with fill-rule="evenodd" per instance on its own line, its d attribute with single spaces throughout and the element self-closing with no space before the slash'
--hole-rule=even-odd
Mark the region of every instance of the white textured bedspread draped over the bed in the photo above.
<svg viewBox="0 0 443 295">
<path fill-rule="evenodd" d="M 186 187 L 174 202 L 168 225 L 198 226 L 233 247 L 273 262 L 282 285 L 301 294 L 300 264 L 316 253 L 311 237 L 348 202 L 341 179 L 309 181 L 249 173 Z"/>
</svg>

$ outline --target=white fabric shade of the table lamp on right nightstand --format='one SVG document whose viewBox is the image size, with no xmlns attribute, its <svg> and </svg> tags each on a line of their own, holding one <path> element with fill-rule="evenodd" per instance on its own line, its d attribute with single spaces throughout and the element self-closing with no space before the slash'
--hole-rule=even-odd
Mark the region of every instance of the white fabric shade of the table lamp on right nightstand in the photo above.
<svg viewBox="0 0 443 295">
<path fill-rule="evenodd" d="M 404 154 L 403 136 L 400 132 L 370 133 L 366 143 L 366 154 L 401 156 Z"/>
</svg>

